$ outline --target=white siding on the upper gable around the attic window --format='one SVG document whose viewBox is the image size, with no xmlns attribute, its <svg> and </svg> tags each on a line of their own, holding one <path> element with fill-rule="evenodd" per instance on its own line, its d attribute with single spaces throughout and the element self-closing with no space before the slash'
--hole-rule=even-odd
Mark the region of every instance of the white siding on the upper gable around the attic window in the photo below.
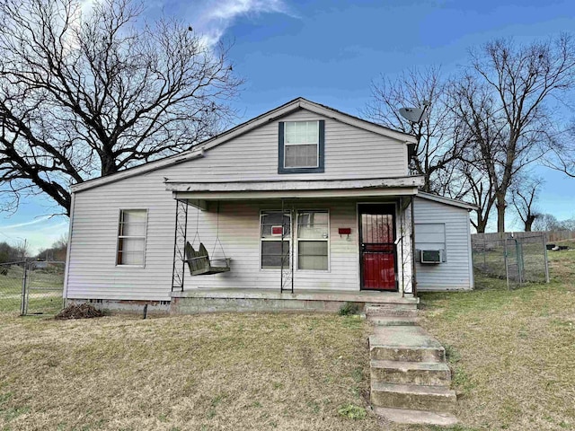
<svg viewBox="0 0 575 431">
<path fill-rule="evenodd" d="M 298 110 L 281 121 L 317 121 Z M 171 181 L 286 180 L 278 173 L 279 120 L 208 150 L 204 157 L 163 170 Z M 389 137 L 325 120 L 324 172 L 291 173 L 288 180 L 353 180 L 408 175 L 406 145 Z M 193 172 L 193 175 L 191 174 Z"/>
</svg>

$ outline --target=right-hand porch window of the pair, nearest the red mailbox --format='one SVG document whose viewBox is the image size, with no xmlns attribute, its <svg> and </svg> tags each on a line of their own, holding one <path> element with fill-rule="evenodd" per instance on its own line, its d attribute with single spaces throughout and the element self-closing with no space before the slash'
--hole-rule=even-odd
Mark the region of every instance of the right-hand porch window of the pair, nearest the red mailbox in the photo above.
<svg viewBox="0 0 575 431">
<path fill-rule="evenodd" d="M 329 212 L 297 211 L 297 269 L 329 269 Z"/>
</svg>

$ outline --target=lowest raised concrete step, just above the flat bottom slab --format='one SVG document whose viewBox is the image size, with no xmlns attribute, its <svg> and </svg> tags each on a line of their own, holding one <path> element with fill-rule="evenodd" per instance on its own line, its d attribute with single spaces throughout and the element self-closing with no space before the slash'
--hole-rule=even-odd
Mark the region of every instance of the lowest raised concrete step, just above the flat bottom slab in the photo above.
<svg viewBox="0 0 575 431">
<path fill-rule="evenodd" d="M 456 402 L 456 392 L 443 386 L 371 383 L 371 404 L 375 407 L 453 413 Z"/>
</svg>

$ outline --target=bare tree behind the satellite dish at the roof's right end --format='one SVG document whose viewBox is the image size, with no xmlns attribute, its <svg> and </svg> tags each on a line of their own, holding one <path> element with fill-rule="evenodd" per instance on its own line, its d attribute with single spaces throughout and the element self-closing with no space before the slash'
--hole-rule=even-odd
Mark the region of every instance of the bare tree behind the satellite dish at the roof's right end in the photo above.
<svg viewBox="0 0 575 431">
<path fill-rule="evenodd" d="M 403 72 L 396 80 L 381 76 L 371 84 L 371 101 L 367 103 L 363 115 L 388 128 L 411 133 L 417 138 L 414 157 L 411 159 L 411 172 L 423 175 L 423 191 L 447 194 L 460 198 L 462 190 L 453 188 L 460 184 L 452 181 L 450 163 L 457 159 L 461 143 L 456 128 L 456 119 L 447 109 L 447 82 L 438 67 L 411 69 Z M 404 119 L 399 109 L 402 107 L 424 108 L 430 102 L 428 116 L 419 123 Z"/>
</svg>

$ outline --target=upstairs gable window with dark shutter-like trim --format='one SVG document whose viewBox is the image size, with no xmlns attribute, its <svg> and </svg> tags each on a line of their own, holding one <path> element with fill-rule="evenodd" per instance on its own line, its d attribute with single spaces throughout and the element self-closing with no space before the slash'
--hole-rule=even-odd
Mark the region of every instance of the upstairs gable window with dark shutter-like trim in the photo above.
<svg viewBox="0 0 575 431">
<path fill-rule="evenodd" d="M 278 142 L 278 173 L 323 172 L 323 119 L 279 122 Z"/>
</svg>

